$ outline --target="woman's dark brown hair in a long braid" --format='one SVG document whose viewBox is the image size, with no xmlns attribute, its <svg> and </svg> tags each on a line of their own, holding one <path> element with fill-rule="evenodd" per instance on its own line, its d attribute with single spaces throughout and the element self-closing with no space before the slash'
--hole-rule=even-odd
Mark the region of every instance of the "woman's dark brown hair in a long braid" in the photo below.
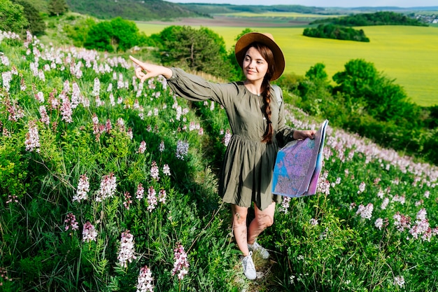
<svg viewBox="0 0 438 292">
<path fill-rule="evenodd" d="M 263 59 L 268 63 L 268 70 L 263 78 L 262 83 L 262 110 L 267 122 L 267 129 L 262 137 L 262 142 L 271 144 L 272 135 L 274 134 L 274 128 L 272 127 L 271 123 L 271 83 L 269 81 L 271 80 L 272 74 L 274 74 L 275 71 L 274 54 L 272 53 L 271 49 L 263 43 L 251 43 L 248 48 L 246 48 L 246 51 L 248 51 L 249 48 L 255 48 L 260 53 L 260 55 L 262 55 Z"/>
</svg>

